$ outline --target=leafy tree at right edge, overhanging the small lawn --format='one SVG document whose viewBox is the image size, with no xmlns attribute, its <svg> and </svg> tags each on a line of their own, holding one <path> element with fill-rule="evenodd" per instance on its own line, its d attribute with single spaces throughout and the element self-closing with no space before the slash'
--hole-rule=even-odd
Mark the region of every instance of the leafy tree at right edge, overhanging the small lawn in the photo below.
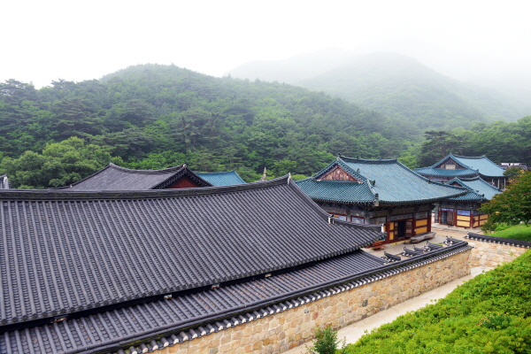
<svg viewBox="0 0 531 354">
<path fill-rule="evenodd" d="M 502 222 L 527 225 L 531 221 L 531 172 L 521 173 L 516 183 L 482 204 L 480 211 L 489 214 L 489 221 L 484 225 L 487 231 L 494 231 L 496 224 Z"/>
</svg>

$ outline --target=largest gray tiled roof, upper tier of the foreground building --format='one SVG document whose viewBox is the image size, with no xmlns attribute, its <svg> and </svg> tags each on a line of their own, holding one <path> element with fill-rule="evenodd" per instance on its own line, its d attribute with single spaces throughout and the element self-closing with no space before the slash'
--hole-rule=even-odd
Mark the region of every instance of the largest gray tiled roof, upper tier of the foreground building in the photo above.
<svg viewBox="0 0 531 354">
<path fill-rule="evenodd" d="M 357 250 L 288 177 L 229 187 L 0 191 L 0 329 L 211 286 Z"/>
</svg>

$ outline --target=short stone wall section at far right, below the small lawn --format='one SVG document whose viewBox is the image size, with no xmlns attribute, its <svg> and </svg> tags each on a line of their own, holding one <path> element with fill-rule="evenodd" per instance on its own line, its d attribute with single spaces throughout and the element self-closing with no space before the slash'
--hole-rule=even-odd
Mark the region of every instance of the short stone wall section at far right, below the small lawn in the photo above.
<svg viewBox="0 0 531 354">
<path fill-rule="evenodd" d="M 501 243 L 482 242 L 475 240 L 466 240 L 473 246 L 470 258 L 471 266 L 500 266 L 504 263 L 511 262 L 514 258 L 519 257 L 527 248 L 511 246 Z"/>
</svg>

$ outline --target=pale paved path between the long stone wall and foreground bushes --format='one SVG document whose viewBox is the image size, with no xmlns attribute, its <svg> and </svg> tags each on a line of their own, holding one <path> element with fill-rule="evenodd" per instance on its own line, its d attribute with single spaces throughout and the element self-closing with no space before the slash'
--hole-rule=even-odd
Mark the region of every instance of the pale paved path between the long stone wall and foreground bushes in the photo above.
<svg viewBox="0 0 531 354">
<path fill-rule="evenodd" d="M 353 323 L 350 326 L 343 327 L 339 330 L 338 338 L 345 338 L 347 343 L 357 342 L 362 335 L 366 334 L 366 332 L 369 332 L 374 328 L 381 327 L 381 325 L 393 321 L 398 316 L 404 315 L 406 312 L 419 310 L 427 304 L 434 304 L 436 300 L 447 296 L 453 289 L 456 289 L 465 281 L 472 279 L 480 273 L 488 272 L 491 269 L 493 268 L 486 266 L 473 267 L 472 273 L 470 275 L 467 275 L 466 277 L 460 278 L 457 281 L 451 281 L 447 284 L 444 284 L 442 287 L 428 291 L 427 293 L 407 300 L 402 304 L 397 304 L 396 306 L 393 306 L 386 311 L 378 312 L 371 317 L 362 319 L 356 323 Z M 310 345 L 310 343 L 308 343 L 308 345 Z M 285 353 L 303 354 L 306 352 L 306 350 L 306 345 L 301 345 L 292 350 L 288 350 Z"/>
</svg>

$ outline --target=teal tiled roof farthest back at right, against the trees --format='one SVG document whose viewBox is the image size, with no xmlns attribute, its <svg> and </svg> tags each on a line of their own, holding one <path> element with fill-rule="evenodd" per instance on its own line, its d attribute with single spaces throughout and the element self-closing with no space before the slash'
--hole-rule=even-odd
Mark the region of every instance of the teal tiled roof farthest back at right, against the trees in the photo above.
<svg viewBox="0 0 531 354">
<path fill-rule="evenodd" d="M 465 169 L 457 170 L 445 170 L 443 168 L 435 168 L 438 165 L 443 164 L 447 159 L 453 159 L 459 165 L 465 167 Z M 441 176 L 441 177 L 464 177 L 464 176 L 476 176 L 480 174 L 485 177 L 504 177 L 504 169 L 494 162 L 490 161 L 486 156 L 480 157 L 466 157 L 450 154 L 446 158 L 437 162 L 430 167 L 417 168 L 417 173 L 424 176 Z M 472 173 L 474 172 L 474 173 Z"/>
</svg>

